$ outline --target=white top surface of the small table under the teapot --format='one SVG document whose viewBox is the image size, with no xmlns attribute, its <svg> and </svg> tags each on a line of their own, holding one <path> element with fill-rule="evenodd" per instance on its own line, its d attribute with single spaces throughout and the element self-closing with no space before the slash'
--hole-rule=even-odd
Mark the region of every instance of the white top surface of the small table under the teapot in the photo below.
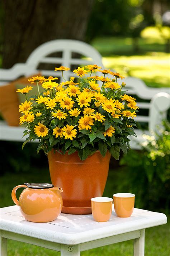
<svg viewBox="0 0 170 256">
<path fill-rule="evenodd" d="M 62 244 L 79 244 L 113 235 L 159 226 L 167 223 L 165 214 L 134 208 L 128 218 L 112 216 L 107 222 L 96 222 L 91 214 L 63 214 L 48 223 L 33 223 L 24 219 L 19 206 L 0 209 L 0 229 L 29 237 Z"/>
</svg>

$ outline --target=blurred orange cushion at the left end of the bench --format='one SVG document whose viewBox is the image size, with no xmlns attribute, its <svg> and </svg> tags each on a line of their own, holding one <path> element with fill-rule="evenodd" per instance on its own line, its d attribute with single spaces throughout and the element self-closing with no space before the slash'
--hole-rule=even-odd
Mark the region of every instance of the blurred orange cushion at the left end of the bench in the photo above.
<svg viewBox="0 0 170 256">
<path fill-rule="evenodd" d="M 22 77 L 8 85 L 0 86 L 0 111 L 4 120 L 10 126 L 19 126 L 20 112 L 19 107 L 19 97 L 16 93 L 16 84 L 25 84 L 25 86 L 30 85 L 28 82 L 29 78 L 33 76 L 41 76 L 41 73 L 32 75 L 29 77 Z"/>
</svg>

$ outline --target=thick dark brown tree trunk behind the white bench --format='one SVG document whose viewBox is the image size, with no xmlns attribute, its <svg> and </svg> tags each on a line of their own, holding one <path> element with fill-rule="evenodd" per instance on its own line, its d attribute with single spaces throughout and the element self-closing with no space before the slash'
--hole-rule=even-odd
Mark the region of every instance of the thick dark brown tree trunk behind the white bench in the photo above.
<svg viewBox="0 0 170 256">
<path fill-rule="evenodd" d="M 94 0 L 3 0 L 3 68 L 53 39 L 84 40 Z"/>
</svg>

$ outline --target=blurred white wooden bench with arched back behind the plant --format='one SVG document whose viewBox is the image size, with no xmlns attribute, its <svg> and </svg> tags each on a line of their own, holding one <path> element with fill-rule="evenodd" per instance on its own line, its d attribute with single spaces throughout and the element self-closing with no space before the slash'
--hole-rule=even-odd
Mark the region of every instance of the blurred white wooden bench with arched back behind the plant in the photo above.
<svg viewBox="0 0 170 256">
<path fill-rule="evenodd" d="M 52 54 L 55 53 L 61 53 L 62 56 L 52 57 Z M 74 58 L 72 57 L 74 53 L 80 54 L 84 58 Z M 69 80 L 70 76 L 74 75 L 72 73 L 72 65 L 77 67 L 98 64 L 98 66 L 104 68 L 101 55 L 89 44 L 77 40 L 52 40 L 36 48 L 25 63 L 17 63 L 10 69 L 0 69 L 0 85 L 8 84 L 9 81 L 13 81 L 20 76 L 29 76 L 39 71 L 43 76 L 52 75 L 62 79 L 61 72 L 54 71 L 54 68 L 40 70 L 39 65 L 41 63 L 70 67 L 71 70 L 65 72 L 66 80 Z M 101 73 L 98 75 L 101 75 Z M 156 125 L 160 124 L 161 120 L 167 115 L 170 104 L 169 89 L 147 87 L 142 80 L 134 77 L 126 77 L 124 82 L 127 84 L 125 90 L 128 90 L 127 93 L 129 95 L 136 95 L 142 100 L 148 100 L 148 102 L 140 102 L 140 100 L 137 102 L 140 109 L 148 109 L 148 115 L 138 115 L 136 121 L 147 123 L 148 130 L 155 129 Z M 136 129 L 138 139 L 131 138 L 132 148 L 140 149 L 138 142 L 142 141 L 142 134 L 148 133 L 148 130 Z M 8 126 L 4 121 L 0 121 L 0 140 L 23 142 L 25 140 L 25 138 L 22 138 L 23 131 L 23 127 Z"/>
</svg>

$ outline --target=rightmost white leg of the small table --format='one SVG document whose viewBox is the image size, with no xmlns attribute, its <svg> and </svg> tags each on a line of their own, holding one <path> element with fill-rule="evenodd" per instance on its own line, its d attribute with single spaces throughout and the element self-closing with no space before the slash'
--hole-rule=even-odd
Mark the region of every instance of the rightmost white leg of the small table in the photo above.
<svg viewBox="0 0 170 256">
<path fill-rule="evenodd" d="M 145 255 L 145 229 L 140 230 L 140 237 L 134 239 L 133 256 Z"/>
</svg>

